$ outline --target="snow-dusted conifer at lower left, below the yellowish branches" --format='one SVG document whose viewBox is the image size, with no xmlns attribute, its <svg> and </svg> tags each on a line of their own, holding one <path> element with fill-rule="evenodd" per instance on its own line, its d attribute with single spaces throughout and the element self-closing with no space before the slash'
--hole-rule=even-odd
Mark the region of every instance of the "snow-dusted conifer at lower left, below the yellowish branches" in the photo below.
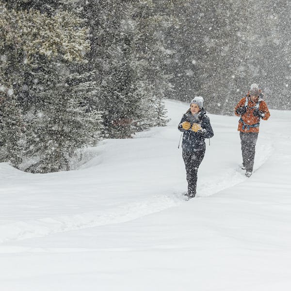
<svg viewBox="0 0 291 291">
<path fill-rule="evenodd" d="M 54 79 L 50 77 L 54 75 Z M 76 79 L 77 77 L 77 79 Z M 86 74 L 85 76 L 86 77 Z M 27 169 L 46 173 L 69 170 L 70 159 L 77 149 L 95 146 L 100 133 L 100 114 L 83 104 L 87 86 L 79 74 L 71 74 L 62 63 L 51 63 L 34 73 L 37 83 L 32 90 L 38 102 L 25 115 L 29 123 L 26 156 L 38 157 Z M 90 96 L 89 91 L 89 96 Z"/>
</svg>

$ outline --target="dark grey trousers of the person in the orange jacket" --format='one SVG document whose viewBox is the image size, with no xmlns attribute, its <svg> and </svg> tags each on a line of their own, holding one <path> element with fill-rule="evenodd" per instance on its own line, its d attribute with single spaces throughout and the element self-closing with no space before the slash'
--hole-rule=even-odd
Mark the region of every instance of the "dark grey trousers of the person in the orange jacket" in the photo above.
<svg viewBox="0 0 291 291">
<path fill-rule="evenodd" d="M 255 160 L 255 147 L 257 144 L 259 132 L 242 132 L 240 131 L 242 145 L 242 165 L 246 172 L 253 172 Z"/>
</svg>

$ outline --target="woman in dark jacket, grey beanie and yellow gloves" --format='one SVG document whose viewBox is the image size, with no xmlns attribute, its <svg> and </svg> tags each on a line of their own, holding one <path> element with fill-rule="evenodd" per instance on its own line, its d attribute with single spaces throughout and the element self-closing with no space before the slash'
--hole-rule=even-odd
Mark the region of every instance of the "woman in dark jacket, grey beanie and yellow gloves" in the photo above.
<svg viewBox="0 0 291 291">
<path fill-rule="evenodd" d="M 178 125 L 178 129 L 183 132 L 182 156 L 186 168 L 189 198 L 196 195 L 197 170 L 204 158 L 205 139 L 214 135 L 210 119 L 203 108 L 203 101 L 202 97 L 195 97 L 190 103 L 190 109 L 183 115 Z"/>
</svg>

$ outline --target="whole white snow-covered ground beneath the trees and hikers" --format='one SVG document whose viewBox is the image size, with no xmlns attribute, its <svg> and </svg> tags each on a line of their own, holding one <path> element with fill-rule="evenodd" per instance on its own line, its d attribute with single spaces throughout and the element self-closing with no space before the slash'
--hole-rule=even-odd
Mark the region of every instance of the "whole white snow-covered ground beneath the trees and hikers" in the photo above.
<svg viewBox="0 0 291 291">
<path fill-rule="evenodd" d="M 238 118 L 210 114 L 198 195 L 184 201 L 188 105 L 166 106 L 167 127 L 102 142 L 78 170 L 0 163 L 1 291 L 291 289 L 291 112 L 261 122 L 251 178 Z"/>
</svg>

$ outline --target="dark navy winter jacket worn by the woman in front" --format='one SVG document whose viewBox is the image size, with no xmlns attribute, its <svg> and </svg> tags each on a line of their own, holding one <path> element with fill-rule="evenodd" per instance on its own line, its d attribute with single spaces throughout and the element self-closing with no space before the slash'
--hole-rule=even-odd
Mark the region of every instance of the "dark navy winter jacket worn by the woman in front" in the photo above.
<svg viewBox="0 0 291 291">
<path fill-rule="evenodd" d="M 182 123 L 184 121 L 188 121 L 191 124 L 191 127 L 194 123 L 198 123 L 201 125 L 202 129 L 197 132 L 192 131 L 192 129 L 185 130 L 182 127 Z M 196 151 L 205 149 L 205 139 L 211 138 L 214 133 L 210 124 L 210 119 L 206 115 L 205 110 L 202 108 L 198 117 L 194 116 L 190 109 L 183 114 L 183 117 L 178 125 L 178 129 L 183 132 L 183 140 L 182 140 L 182 149 L 183 151 Z"/>
</svg>

